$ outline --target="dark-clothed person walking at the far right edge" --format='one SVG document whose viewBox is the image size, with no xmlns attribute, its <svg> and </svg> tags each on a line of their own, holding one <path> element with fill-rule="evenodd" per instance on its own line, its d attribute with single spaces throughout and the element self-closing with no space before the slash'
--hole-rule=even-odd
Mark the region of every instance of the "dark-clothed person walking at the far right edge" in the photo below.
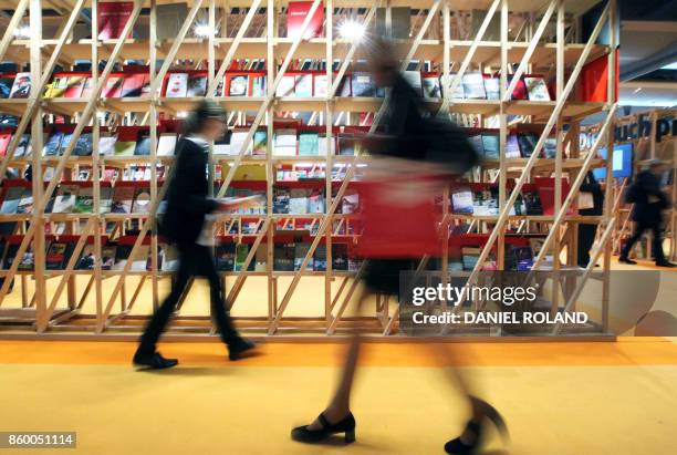
<svg viewBox="0 0 677 455">
<path fill-rule="evenodd" d="M 625 200 L 633 204 L 631 214 L 635 221 L 635 230 L 623 251 L 618 261 L 625 263 L 637 263 L 629 258 L 633 247 L 642 238 L 646 230 L 654 232 L 653 254 L 656 266 L 675 267 L 663 254 L 663 210 L 669 207 L 667 194 L 663 190 L 660 177 L 665 172 L 665 165 L 659 159 L 652 159 L 644 170 L 635 177 L 635 182 L 627 189 Z"/>
</svg>

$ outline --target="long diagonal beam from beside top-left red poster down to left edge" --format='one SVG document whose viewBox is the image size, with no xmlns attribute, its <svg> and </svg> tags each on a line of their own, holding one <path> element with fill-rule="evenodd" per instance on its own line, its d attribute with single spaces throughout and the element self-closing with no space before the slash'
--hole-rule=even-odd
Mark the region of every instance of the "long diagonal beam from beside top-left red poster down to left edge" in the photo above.
<svg viewBox="0 0 677 455">
<path fill-rule="evenodd" d="M 82 1 L 83 0 L 79 0 L 79 4 L 82 4 Z M 129 32 L 132 31 L 132 28 L 134 27 L 134 23 L 136 22 L 136 19 L 138 18 L 138 14 L 140 13 L 142 6 L 143 6 L 143 0 L 134 0 L 134 9 L 132 11 L 132 14 L 129 15 L 129 19 L 128 19 L 127 23 L 125 24 L 125 27 L 123 29 L 123 32 L 122 32 L 122 35 L 117 40 L 117 42 L 115 44 L 115 48 L 113 49 L 113 52 L 111 53 L 111 58 L 110 58 L 108 62 L 106 63 L 106 66 L 105 66 L 104 71 L 101 74 L 101 79 L 100 79 L 98 83 L 96 84 L 96 86 L 93 90 L 92 97 L 87 102 L 87 105 L 85 106 L 85 108 L 84 108 L 84 111 L 82 113 L 80 122 L 75 126 L 75 131 L 73 132 L 73 137 L 72 137 L 69 146 L 66 147 L 66 149 L 64 151 L 63 155 L 59 159 L 59 164 L 56 166 L 56 169 L 54 170 L 54 176 L 53 176 L 52 180 L 50 182 L 46 190 L 44 192 L 44 194 L 42 196 L 42 200 L 37 206 L 33 207 L 33 217 L 32 217 L 32 220 L 31 220 L 31 224 L 30 224 L 29 228 L 27 229 L 27 231 L 25 231 L 25 234 L 23 236 L 23 240 L 21 241 L 21 245 L 19 246 L 19 250 L 17 251 L 17 257 L 22 257 L 23 254 L 25 252 L 25 250 L 28 249 L 28 246 L 29 246 L 29 244 L 30 244 L 30 241 L 31 241 L 31 239 L 33 237 L 33 234 L 35 232 L 37 225 L 40 221 L 40 218 L 44 214 L 44 208 L 45 208 L 46 204 L 49 203 L 50 197 L 54 193 L 54 189 L 56 188 L 56 185 L 59 185 L 59 180 L 60 180 L 61 174 L 63 173 L 63 169 L 65 167 L 66 161 L 71 156 L 71 153 L 73 152 L 73 149 L 75 148 L 75 144 L 77 143 L 77 139 L 80 138 L 80 135 L 82 134 L 83 130 L 85 128 L 85 126 L 90 122 L 92 113 L 94 112 L 94 107 L 96 106 L 96 102 L 97 102 L 98 97 L 101 96 L 101 91 L 103 90 L 104 82 L 108 77 L 111 72 L 113 71 L 113 66 L 115 64 L 115 61 L 117 60 L 119 51 L 122 50 L 122 46 L 124 45 L 125 37 L 127 37 L 129 34 Z M 59 49 L 59 46 L 56 49 Z M 55 52 L 56 52 L 56 49 L 55 49 Z M 34 99 L 34 101 L 35 101 L 34 106 L 37 106 L 38 105 L 37 104 L 38 99 Z M 23 117 L 22 118 L 22 123 L 25 120 L 25 123 L 28 124 L 28 118 L 29 118 L 29 116 Z M 25 128 L 25 125 L 24 125 L 24 128 Z M 17 134 L 17 137 L 18 136 L 19 136 L 19 134 Z M 33 153 L 40 153 L 40 151 L 33 151 Z M 6 156 L 6 158 L 7 158 L 7 156 Z M 4 164 L 6 163 L 3 163 L 3 165 Z M 1 177 L 1 175 L 0 175 L 0 177 Z M 35 176 L 35 178 L 39 178 L 39 177 Z M 13 276 L 17 272 L 17 268 L 18 267 L 19 267 L 19 261 L 14 261 L 12 263 L 12 267 L 10 268 L 10 270 L 8 270 L 8 273 L 10 276 Z M 10 282 L 11 282 L 11 280 L 4 280 L 4 282 L 2 283 L 2 287 L 0 288 L 0 301 L 7 294 L 7 291 L 9 289 Z"/>
</svg>

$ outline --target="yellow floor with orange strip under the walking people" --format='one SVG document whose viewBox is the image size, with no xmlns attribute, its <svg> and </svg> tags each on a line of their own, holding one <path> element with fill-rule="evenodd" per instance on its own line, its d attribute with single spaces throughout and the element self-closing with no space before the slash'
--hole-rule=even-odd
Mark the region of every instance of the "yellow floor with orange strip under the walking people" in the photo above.
<svg viewBox="0 0 677 455">
<path fill-rule="evenodd" d="M 449 360 L 415 343 L 367 345 L 356 444 L 290 441 L 290 427 L 325 404 L 342 349 L 269 343 L 228 363 L 216 343 L 165 343 L 181 365 L 139 373 L 128 364 L 133 343 L 0 341 L 0 431 L 75 431 L 79 449 L 67 453 L 97 455 L 444 453 L 466 409 L 445 374 Z M 677 343 L 444 349 L 460 353 L 455 363 L 508 420 L 512 442 L 492 436 L 487 454 L 677 453 Z"/>
</svg>

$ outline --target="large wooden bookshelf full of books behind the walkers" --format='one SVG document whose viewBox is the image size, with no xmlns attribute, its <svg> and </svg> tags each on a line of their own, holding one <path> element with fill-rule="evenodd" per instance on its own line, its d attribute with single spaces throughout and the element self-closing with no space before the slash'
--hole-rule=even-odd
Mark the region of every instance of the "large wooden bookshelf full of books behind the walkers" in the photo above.
<svg viewBox="0 0 677 455">
<path fill-rule="evenodd" d="M 563 0 L 134 0 L 107 23 L 80 17 L 83 8 L 103 17 L 107 2 L 0 3 L 14 11 L 0 61 L 15 63 L 0 76 L 0 306 L 18 302 L 0 316 L 2 327 L 101 337 L 140 330 L 136 303 L 157 306 L 176 267 L 153 229 L 173 144 L 181 118 L 209 97 L 229 124 L 228 137 L 210 147 L 213 195 L 265 196 L 247 213 L 215 217 L 217 266 L 239 325 L 269 335 L 355 324 L 397 333 L 387 297 L 376 298 L 373 314 L 348 314 L 363 267 L 352 254 L 361 230 L 354 182 L 368 156 L 346 144 L 378 127 L 385 99 L 365 72 L 368 40 L 344 35 L 350 21 L 395 37 L 405 76 L 481 148 L 468 182 L 439 195 L 439 269 L 460 263 L 470 280 L 487 263 L 556 276 L 575 263 L 570 227 L 598 224 L 592 256 L 603 257 L 603 268 L 593 273 L 591 261 L 581 282 L 602 280 L 595 330 L 605 331 L 613 200 L 607 194 L 604 215 L 583 217 L 574 199 L 589 168 L 612 172 L 596 149 L 611 143 L 617 43 L 613 33 L 610 44 L 596 41 L 606 19 L 617 22 L 615 1 L 586 39 L 581 2 Z M 600 60 L 610 69 L 606 96 L 583 99 L 579 76 Z M 580 121 L 600 112 L 602 134 L 582 151 Z M 32 182 L 22 178 L 29 167 Z M 551 311 L 571 309 L 576 292 L 564 301 L 555 292 Z M 249 312 L 254 303 L 262 310 Z M 175 325 L 211 330 L 208 317 L 180 310 Z"/>
</svg>

